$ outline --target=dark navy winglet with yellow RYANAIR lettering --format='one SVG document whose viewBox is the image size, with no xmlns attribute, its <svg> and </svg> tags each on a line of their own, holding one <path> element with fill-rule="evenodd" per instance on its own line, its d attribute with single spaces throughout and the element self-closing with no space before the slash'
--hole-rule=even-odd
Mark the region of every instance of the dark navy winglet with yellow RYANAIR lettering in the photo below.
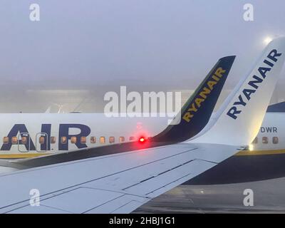
<svg viewBox="0 0 285 228">
<path fill-rule="evenodd" d="M 205 125 L 217 103 L 235 56 L 220 58 L 195 93 L 183 105 L 172 123 L 155 135 L 155 142 L 181 142 L 197 135 Z"/>
</svg>

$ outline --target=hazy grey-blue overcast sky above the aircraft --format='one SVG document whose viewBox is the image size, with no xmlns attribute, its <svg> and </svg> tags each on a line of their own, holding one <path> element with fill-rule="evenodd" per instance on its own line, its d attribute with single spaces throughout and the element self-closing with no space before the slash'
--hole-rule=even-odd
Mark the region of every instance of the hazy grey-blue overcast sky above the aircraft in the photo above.
<svg viewBox="0 0 285 228">
<path fill-rule="evenodd" d="M 29 19 L 33 3 L 40 21 Z M 247 3 L 254 21 L 243 19 Z M 264 38 L 285 36 L 284 12 L 284 0 L 1 0 L 1 103 L 31 90 L 193 90 L 234 54 L 231 89 Z"/>
</svg>

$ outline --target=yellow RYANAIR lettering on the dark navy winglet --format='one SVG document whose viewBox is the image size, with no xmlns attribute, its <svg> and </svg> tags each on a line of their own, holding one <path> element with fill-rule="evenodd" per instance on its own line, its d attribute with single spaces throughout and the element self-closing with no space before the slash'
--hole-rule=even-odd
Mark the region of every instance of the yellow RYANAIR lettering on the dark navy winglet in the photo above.
<svg viewBox="0 0 285 228">
<path fill-rule="evenodd" d="M 194 114 L 201 107 L 204 100 L 206 100 L 207 96 L 212 92 L 219 79 L 222 78 L 224 72 L 226 72 L 226 70 L 223 70 L 222 67 L 217 68 L 214 75 L 212 75 L 211 80 L 207 81 L 207 86 L 202 88 L 197 98 L 195 98 L 194 102 L 187 109 L 187 112 L 183 115 L 183 120 L 185 120 L 187 123 L 190 122 Z"/>
</svg>

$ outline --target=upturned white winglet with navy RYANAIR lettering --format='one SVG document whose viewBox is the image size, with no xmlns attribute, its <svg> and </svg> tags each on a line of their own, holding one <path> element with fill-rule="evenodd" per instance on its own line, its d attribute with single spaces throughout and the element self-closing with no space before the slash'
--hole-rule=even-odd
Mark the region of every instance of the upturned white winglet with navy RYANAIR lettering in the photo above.
<svg viewBox="0 0 285 228">
<path fill-rule="evenodd" d="M 215 118 L 191 142 L 249 145 L 259 132 L 284 59 L 285 37 L 276 38 L 224 101 Z"/>
</svg>

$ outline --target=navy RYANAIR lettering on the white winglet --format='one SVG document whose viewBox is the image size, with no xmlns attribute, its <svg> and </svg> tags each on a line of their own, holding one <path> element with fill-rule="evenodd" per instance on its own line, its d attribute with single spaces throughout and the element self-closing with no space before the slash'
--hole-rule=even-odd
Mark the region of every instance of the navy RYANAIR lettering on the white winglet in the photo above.
<svg viewBox="0 0 285 228">
<path fill-rule="evenodd" d="M 281 56 L 281 53 L 278 53 L 276 49 L 273 49 L 269 52 L 266 59 L 263 61 L 265 65 L 260 66 L 258 69 L 259 76 L 252 76 L 252 81 L 249 81 L 249 83 L 247 83 L 249 88 L 244 88 L 244 90 L 242 90 L 242 94 L 240 94 L 238 97 L 239 100 L 234 102 L 232 108 L 228 110 L 227 115 L 229 115 L 230 118 L 233 118 L 235 120 L 237 119 L 237 115 L 242 113 L 241 108 L 247 105 L 247 101 L 249 101 L 252 98 L 252 95 L 257 91 L 259 85 L 266 78 L 266 73 L 271 71 L 271 68 L 274 67 L 274 63 L 278 61 L 279 56 Z"/>
</svg>

